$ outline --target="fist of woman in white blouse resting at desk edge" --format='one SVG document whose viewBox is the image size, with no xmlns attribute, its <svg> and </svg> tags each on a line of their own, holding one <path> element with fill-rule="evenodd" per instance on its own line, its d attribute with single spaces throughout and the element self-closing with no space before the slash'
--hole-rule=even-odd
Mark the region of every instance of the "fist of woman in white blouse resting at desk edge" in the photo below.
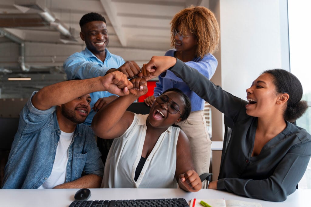
<svg viewBox="0 0 311 207">
<path fill-rule="evenodd" d="M 202 188 L 202 182 L 195 170 L 188 170 L 179 175 L 179 184 L 189 192 L 197 192 Z"/>
</svg>

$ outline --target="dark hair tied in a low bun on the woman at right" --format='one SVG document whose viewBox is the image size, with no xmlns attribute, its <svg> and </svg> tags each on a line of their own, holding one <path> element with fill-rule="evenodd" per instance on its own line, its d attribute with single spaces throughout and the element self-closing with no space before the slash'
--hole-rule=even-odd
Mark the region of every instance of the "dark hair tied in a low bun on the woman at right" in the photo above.
<svg viewBox="0 0 311 207">
<path fill-rule="evenodd" d="M 295 122 L 308 108 L 307 101 L 301 101 L 303 90 L 299 79 L 282 69 L 266 70 L 263 73 L 272 75 L 277 93 L 288 93 L 289 99 L 283 116 L 286 121 Z"/>
</svg>

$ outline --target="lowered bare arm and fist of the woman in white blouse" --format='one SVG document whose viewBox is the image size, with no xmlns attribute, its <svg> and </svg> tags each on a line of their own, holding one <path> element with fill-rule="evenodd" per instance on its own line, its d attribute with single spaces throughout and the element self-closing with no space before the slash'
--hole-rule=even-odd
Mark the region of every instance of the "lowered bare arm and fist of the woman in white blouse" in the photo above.
<svg viewBox="0 0 311 207">
<path fill-rule="evenodd" d="M 202 182 L 194 170 L 189 140 L 180 130 L 177 141 L 175 178 L 178 185 L 185 191 L 197 192 L 202 188 Z"/>
</svg>

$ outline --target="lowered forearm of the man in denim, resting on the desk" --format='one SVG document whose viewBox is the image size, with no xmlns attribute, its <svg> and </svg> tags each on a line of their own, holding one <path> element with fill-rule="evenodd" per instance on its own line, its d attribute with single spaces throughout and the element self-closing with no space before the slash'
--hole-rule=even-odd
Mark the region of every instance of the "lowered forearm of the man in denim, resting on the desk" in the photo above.
<svg viewBox="0 0 311 207">
<path fill-rule="evenodd" d="M 98 175 L 90 174 L 82 176 L 77 180 L 66 182 L 53 188 L 100 188 L 102 179 Z"/>
</svg>

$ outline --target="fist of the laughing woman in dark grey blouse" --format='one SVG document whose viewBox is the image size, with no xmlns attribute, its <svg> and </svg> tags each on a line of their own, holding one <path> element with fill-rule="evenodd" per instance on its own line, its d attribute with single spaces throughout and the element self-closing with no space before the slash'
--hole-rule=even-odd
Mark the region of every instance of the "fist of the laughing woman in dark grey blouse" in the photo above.
<svg viewBox="0 0 311 207">
<path fill-rule="evenodd" d="M 153 79 L 176 64 L 176 58 L 171 56 L 152 56 L 151 60 L 142 66 L 142 77 Z"/>
</svg>

